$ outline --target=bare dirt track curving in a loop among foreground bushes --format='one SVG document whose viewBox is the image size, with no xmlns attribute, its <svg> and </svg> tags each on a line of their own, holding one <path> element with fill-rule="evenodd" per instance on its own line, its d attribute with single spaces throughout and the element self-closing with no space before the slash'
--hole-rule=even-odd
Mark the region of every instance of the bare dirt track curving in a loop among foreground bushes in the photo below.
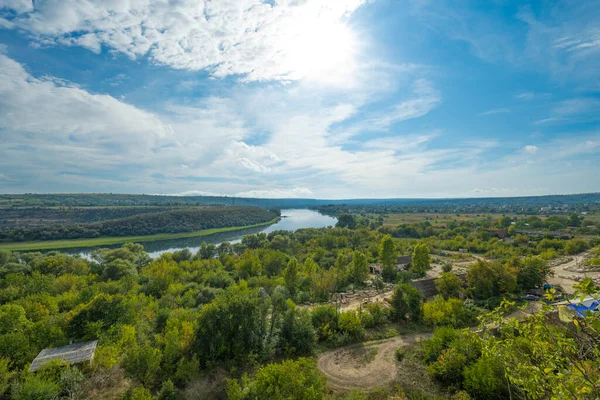
<svg viewBox="0 0 600 400">
<path fill-rule="evenodd" d="M 396 378 L 396 349 L 430 336 L 430 333 L 412 334 L 342 347 L 320 354 L 317 363 L 327 377 L 327 384 L 335 391 L 385 386 Z"/>
</svg>

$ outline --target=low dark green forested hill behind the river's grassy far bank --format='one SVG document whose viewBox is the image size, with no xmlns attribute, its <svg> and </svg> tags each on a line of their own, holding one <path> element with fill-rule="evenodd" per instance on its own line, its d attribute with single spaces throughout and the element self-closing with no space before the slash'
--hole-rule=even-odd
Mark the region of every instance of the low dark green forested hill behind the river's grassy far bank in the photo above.
<svg viewBox="0 0 600 400">
<path fill-rule="evenodd" d="M 194 232 L 255 225 L 269 222 L 277 216 L 276 212 L 259 207 L 190 207 L 84 224 L 4 227 L 0 230 L 0 240 L 56 240 Z"/>
</svg>

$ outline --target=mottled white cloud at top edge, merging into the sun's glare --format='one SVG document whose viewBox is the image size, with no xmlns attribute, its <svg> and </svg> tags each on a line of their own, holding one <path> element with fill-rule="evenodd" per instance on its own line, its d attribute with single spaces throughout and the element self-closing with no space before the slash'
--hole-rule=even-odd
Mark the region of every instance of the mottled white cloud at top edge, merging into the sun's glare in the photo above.
<svg viewBox="0 0 600 400">
<path fill-rule="evenodd" d="M 6 2 L 6 0 L 3 0 Z M 358 50 L 344 19 L 365 0 L 11 1 L 38 45 L 102 47 L 246 81 L 337 80 Z M 27 6 L 26 3 L 29 3 Z M 348 78 L 348 77 L 346 77 Z"/>
</svg>

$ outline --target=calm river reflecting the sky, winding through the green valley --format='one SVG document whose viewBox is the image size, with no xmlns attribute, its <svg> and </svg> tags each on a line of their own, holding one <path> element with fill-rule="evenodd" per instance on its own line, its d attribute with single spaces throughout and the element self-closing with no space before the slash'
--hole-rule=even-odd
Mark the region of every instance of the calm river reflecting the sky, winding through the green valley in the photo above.
<svg viewBox="0 0 600 400">
<path fill-rule="evenodd" d="M 268 226 L 259 226 L 256 228 L 241 229 L 239 231 L 215 233 L 210 236 L 199 236 L 184 239 L 160 240 L 156 242 L 140 242 L 151 257 L 158 257 L 162 253 L 171 253 L 181 249 L 190 249 L 192 253 L 196 253 L 202 242 L 213 243 L 218 245 L 222 242 L 237 243 L 242 240 L 242 237 L 249 234 L 260 232 L 269 233 L 278 230 L 295 231 L 303 228 L 324 228 L 327 226 L 335 226 L 337 219 L 327 215 L 319 214 L 312 210 L 282 210 L 281 219 Z M 116 246 L 98 246 L 95 248 L 78 248 L 78 249 L 63 249 L 61 252 L 68 254 L 79 254 L 84 258 L 90 258 L 92 251 L 100 247 L 116 248 Z"/>
</svg>

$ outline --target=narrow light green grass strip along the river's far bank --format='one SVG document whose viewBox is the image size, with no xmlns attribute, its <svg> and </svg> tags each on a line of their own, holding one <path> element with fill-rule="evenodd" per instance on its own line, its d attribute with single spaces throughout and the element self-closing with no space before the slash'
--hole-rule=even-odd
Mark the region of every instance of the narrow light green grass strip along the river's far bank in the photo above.
<svg viewBox="0 0 600 400">
<path fill-rule="evenodd" d="M 279 217 L 273 218 L 271 221 L 247 225 L 247 226 L 230 226 L 227 228 L 203 229 L 196 232 L 183 233 L 160 233 L 157 235 L 147 236 L 116 236 L 116 237 L 99 237 L 91 239 L 70 239 L 70 240 L 42 240 L 36 242 L 8 242 L 0 243 L 0 249 L 13 251 L 31 251 L 31 250 L 58 250 L 69 249 L 74 247 L 96 247 L 107 246 L 113 244 L 123 244 L 128 242 L 155 242 L 158 240 L 183 239 L 190 237 L 208 236 L 215 233 L 231 232 L 246 228 L 255 228 L 257 226 L 266 226 L 279 221 Z"/>
</svg>

